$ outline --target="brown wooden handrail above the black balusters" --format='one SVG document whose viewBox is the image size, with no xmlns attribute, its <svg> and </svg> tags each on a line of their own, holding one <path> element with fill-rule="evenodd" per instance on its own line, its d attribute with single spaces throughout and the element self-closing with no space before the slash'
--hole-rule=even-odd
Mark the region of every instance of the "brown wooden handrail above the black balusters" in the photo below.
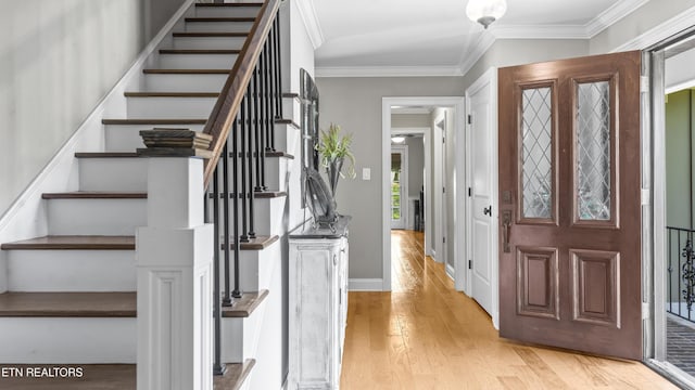
<svg viewBox="0 0 695 390">
<path fill-rule="evenodd" d="M 213 155 L 205 161 L 205 182 L 204 187 L 207 187 L 210 180 L 215 172 L 217 160 L 222 154 L 222 151 L 227 142 L 229 135 L 229 129 L 235 120 L 239 106 L 244 96 L 244 91 L 249 86 L 249 80 L 254 72 L 258 56 L 263 51 L 265 41 L 267 40 L 273 22 L 280 8 L 280 0 L 266 0 L 258 15 L 256 16 L 253 27 L 249 32 L 249 38 L 243 44 L 235 65 L 229 72 L 229 77 L 225 82 L 225 87 L 219 93 L 219 99 L 215 103 L 215 107 L 210 114 L 207 123 L 203 132 L 213 136 L 210 150 Z"/>
</svg>

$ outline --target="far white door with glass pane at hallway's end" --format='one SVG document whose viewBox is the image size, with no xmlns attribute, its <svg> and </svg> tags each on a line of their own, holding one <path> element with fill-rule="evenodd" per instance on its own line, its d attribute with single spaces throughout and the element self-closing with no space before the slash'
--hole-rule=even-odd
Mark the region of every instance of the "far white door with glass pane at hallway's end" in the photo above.
<svg viewBox="0 0 695 390">
<path fill-rule="evenodd" d="M 408 146 L 391 146 L 391 229 L 406 229 L 408 216 Z"/>
</svg>

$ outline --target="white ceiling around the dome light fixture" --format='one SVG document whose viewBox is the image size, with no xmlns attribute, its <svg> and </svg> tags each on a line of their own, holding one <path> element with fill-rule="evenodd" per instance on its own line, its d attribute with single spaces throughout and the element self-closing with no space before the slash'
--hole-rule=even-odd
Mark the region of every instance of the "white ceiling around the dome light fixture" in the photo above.
<svg viewBox="0 0 695 390">
<path fill-rule="evenodd" d="M 484 31 L 467 0 L 301 0 L 319 76 L 456 75 L 495 38 L 587 39 L 648 0 L 507 0 Z"/>
</svg>

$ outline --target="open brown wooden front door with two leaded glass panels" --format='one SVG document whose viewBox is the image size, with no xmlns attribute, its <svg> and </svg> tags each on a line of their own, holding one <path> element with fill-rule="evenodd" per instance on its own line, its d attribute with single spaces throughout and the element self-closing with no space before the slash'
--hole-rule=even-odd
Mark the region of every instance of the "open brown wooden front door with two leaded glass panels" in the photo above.
<svg viewBox="0 0 695 390">
<path fill-rule="evenodd" d="M 500 69 L 500 336 L 642 359 L 640 73 Z"/>
</svg>

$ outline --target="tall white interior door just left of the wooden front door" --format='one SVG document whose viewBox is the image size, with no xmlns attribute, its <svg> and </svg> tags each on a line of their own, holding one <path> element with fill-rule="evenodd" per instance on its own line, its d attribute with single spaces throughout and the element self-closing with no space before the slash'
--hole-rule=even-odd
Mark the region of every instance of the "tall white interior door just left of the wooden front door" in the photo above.
<svg viewBox="0 0 695 390">
<path fill-rule="evenodd" d="M 493 115 L 491 83 L 469 89 L 467 155 L 469 161 L 468 180 L 468 225 L 470 231 L 469 275 L 471 297 L 492 315 L 494 291 L 493 251 L 496 246 L 496 210 L 493 207 L 495 188 L 493 172 Z M 496 158 L 496 156 L 494 156 Z M 494 216 L 494 217 L 493 217 Z"/>
</svg>

